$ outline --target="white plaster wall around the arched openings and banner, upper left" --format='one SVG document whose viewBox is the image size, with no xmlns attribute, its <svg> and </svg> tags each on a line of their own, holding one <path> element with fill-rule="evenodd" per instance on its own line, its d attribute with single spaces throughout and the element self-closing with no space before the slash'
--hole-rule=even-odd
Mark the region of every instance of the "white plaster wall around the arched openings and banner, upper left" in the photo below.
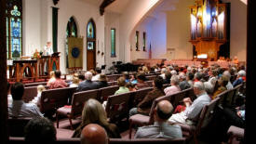
<svg viewBox="0 0 256 144">
<path fill-rule="evenodd" d="M 35 48 L 43 49 L 47 41 L 52 41 L 52 7 L 59 8 L 58 51 L 61 52 L 61 72 L 66 73 L 65 43 L 68 20 L 74 17 L 78 35 L 84 37 L 83 68 L 87 69 L 86 34 L 89 19 L 96 23 L 96 52 L 104 52 L 104 16 L 99 7 L 81 0 L 61 0 L 53 6 L 52 0 L 23 0 L 23 53 L 31 55 Z M 104 56 L 96 54 L 97 66 L 105 63 Z"/>
</svg>

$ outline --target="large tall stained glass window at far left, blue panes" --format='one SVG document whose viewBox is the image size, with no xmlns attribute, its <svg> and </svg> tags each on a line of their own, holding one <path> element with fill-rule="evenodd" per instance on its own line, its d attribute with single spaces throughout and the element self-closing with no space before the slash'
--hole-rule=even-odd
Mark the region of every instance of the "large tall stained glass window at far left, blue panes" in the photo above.
<svg viewBox="0 0 256 144">
<path fill-rule="evenodd" d="M 22 55 L 22 1 L 7 1 L 7 59 Z"/>
</svg>

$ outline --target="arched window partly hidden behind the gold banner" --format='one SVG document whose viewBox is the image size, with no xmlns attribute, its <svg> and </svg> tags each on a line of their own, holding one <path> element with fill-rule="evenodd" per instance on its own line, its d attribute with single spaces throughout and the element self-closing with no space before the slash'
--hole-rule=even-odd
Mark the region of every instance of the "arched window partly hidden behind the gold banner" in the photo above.
<svg viewBox="0 0 256 144">
<path fill-rule="evenodd" d="M 67 24 L 67 30 L 66 30 L 66 67 L 69 67 L 69 60 L 68 60 L 68 54 L 69 54 L 69 46 L 68 46 L 68 37 L 78 37 L 77 34 L 77 27 L 76 23 L 74 21 L 74 18 L 71 17 Z"/>
</svg>

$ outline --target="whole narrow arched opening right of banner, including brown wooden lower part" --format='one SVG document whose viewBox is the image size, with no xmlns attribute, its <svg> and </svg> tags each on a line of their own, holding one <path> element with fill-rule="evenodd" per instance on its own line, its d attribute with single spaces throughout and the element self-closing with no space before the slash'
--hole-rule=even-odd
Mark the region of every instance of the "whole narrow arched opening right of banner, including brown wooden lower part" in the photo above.
<svg viewBox="0 0 256 144">
<path fill-rule="evenodd" d="M 87 66 L 88 70 L 96 67 L 96 28 L 91 19 L 87 26 Z"/>
</svg>

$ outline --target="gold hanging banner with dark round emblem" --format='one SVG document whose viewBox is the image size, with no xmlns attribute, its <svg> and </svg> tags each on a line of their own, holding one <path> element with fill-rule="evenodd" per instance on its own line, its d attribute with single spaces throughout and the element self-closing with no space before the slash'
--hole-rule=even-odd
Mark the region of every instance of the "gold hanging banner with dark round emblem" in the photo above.
<svg viewBox="0 0 256 144">
<path fill-rule="evenodd" d="M 83 67 L 83 38 L 68 38 L 68 62 L 69 68 Z"/>
</svg>

